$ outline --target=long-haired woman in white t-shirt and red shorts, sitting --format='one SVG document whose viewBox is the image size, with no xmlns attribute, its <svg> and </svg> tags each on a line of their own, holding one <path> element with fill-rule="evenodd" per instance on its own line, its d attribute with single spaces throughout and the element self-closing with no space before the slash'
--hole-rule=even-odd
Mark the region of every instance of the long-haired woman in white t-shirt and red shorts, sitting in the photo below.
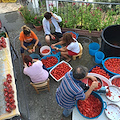
<svg viewBox="0 0 120 120">
<path fill-rule="evenodd" d="M 56 48 L 55 45 L 66 44 L 65 47 Z M 72 37 L 70 33 L 64 33 L 61 41 L 55 44 L 52 44 L 51 47 L 53 49 L 59 50 L 61 55 L 66 58 L 66 62 L 69 62 L 71 58 L 69 56 L 77 55 L 80 52 L 80 47 L 75 38 Z"/>
</svg>

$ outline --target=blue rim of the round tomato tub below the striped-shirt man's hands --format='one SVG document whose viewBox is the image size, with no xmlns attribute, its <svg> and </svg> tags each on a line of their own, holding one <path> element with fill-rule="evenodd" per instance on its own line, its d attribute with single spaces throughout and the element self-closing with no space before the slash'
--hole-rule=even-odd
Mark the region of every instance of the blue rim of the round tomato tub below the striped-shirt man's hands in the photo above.
<svg viewBox="0 0 120 120">
<path fill-rule="evenodd" d="M 91 95 L 94 95 L 94 96 L 95 96 L 96 98 L 98 98 L 98 99 L 100 100 L 100 102 L 102 103 L 101 113 L 100 113 L 98 116 L 96 116 L 96 117 L 89 118 L 89 117 L 84 116 L 84 115 L 79 111 L 79 109 L 78 109 L 78 105 L 77 105 L 78 100 L 76 101 L 76 108 L 77 108 L 78 112 L 80 113 L 80 115 L 82 115 L 84 118 L 87 118 L 87 119 L 95 119 L 95 118 L 98 118 L 98 117 L 103 113 L 103 111 L 107 108 L 107 103 L 106 103 L 105 101 L 103 101 L 102 97 L 101 97 L 98 93 L 92 91 Z"/>
</svg>

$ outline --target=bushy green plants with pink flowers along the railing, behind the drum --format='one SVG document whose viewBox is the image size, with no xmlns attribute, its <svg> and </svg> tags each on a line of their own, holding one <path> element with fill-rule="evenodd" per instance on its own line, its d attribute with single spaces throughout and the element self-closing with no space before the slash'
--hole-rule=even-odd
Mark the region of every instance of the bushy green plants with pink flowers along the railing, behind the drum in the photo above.
<svg viewBox="0 0 120 120">
<path fill-rule="evenodd" d="M 100 31 L 109 25 L 120 24 L 118 6 L 106 12 L 89 3 L 62 4 L 58 14 L 62 17 L 61 27 Z"/>
</svg>

